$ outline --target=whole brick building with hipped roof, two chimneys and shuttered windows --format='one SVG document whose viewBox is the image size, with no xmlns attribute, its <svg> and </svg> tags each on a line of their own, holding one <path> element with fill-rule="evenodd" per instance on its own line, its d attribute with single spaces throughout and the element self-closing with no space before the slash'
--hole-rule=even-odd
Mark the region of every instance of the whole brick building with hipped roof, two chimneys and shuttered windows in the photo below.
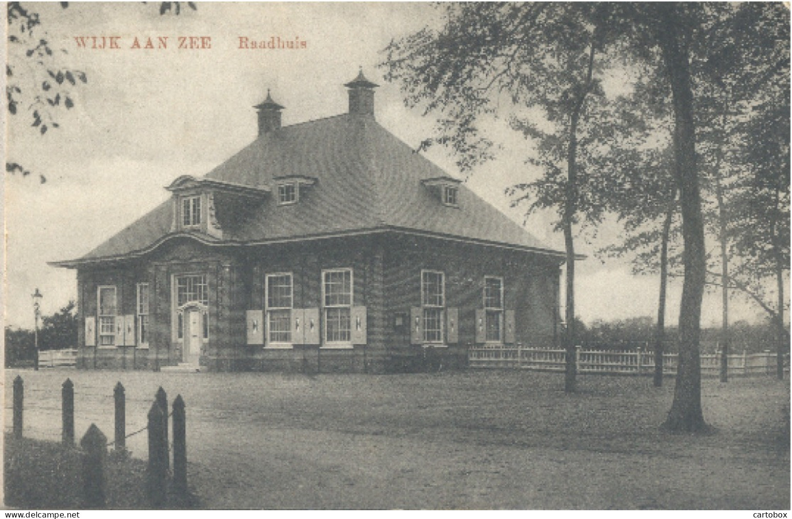
<svg viewBox="0 0 792 519">
<path fill-rule="evenodd" d="M 474 343 L 553 343 L 563 252 L 375 120 L 281 126 L 78 260 L 78 366 L 386 373 Z"/>
</svg>

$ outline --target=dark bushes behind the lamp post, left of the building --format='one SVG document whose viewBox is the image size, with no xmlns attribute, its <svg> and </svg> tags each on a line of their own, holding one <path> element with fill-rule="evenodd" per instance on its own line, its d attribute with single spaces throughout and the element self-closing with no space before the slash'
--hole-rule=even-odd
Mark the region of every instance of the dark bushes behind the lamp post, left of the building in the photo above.
<svg viewBox="0 0 792 519">
<path fill-rule="evenodd" d="M 39 350 L 77 347 L 78 318 L 74 301 L 51 316 L 42 316 L 39 325 Z M 6 367 L 25 366 L 36 358 L 34 331 L 6 326 Z"/>
</svg>

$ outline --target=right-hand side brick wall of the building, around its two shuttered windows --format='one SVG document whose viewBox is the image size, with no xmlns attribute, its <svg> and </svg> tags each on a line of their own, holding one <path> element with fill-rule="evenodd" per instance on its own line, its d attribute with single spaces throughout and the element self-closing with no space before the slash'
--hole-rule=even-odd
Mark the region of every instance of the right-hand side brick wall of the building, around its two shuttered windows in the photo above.
<svg viewBox="0 0 792 519">
<path fill-rule="evenodd" d="M 384 260 L 385 312 L 390 323 L 397 313 L 409 316 L 411 308 L 421 306 L 421 270 L 444 272 L 446 308 L 459 309 L 459 345 L 447 350 L 447 355 L 459 357 L 458 362 L 466 357 L 465 345 L 475 341 L 475 311 L 483 308 L 485 276 L 503 278 L 504 308 L 515 311 L 516 341 L 553 344 L 558 260 L 504 248 L 394 237 L 387 241 Z M 415 350 L 409 329 L 392 324 L 386 328 L 385 343 L 397 356 Z"/>
</svg>

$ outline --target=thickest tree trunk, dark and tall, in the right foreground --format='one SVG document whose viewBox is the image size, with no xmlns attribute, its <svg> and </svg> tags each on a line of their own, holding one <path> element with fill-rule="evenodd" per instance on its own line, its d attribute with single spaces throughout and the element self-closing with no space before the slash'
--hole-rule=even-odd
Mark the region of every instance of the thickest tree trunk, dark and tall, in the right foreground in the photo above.
<svg viewBox="0 0 792 519">
<path fill-rule="evenodd" d="M 674 400 L 664 427 L 673 431 L 701 431 L 707 428 L 701 410 L 701 305 L 706 282 L 704 223 L 695 159 L 693 92 L 688 50 L 682 33 L 684 25 L 676 3 L 657 4 L 660 27 L 658 39 L 674 107 L 675 176 L 680 190 L 684 243 L 684 282 L 680 303 L 679 365 Z"/>
</svg>

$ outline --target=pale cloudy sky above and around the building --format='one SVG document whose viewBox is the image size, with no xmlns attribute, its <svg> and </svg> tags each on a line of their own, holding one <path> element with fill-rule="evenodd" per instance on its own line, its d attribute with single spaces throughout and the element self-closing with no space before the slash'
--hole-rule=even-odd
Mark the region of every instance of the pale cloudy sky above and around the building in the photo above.
<svg viewBox="0 0 792 519">
<path fill-rule="evenodd" d="M 158 13 L 159 2 L 29 4 L 37 9 L 45 37 L 63 66 L 86 73 L 88 82 L 71 89 L 74 108 L 55 112 L 59 128 L 41 135 L 30 127 L 26 106 L 7 121 L 7 157 L 31 176 L 6 175 L 6 324 L 31 328 L 30 294 L 44 294 L 42 311 L 53 313 L 76 297 L 75 271 L 48 261 L 75 259 L 101 244 L 169 197 L 164 189 L 181 175 L 201 176 L 253 141 L 254 104 L 267 89 L 286 108 L 284 125 L 346 112 L 343 84 L 363 67 L 381 85 L 375 98 L 380 124 L 410 146 L 431 134 L 432 119 L 406 108 L 398 85 L 383 81 L 377 67 L 383 48 L 440 17 L 427 3 L 203 3 L 179 16 Z M 46 34 L 44 35 L 44 31 Z M 120 48 L 79 47 L 79 36 L 118 36 Z M 208 36 L 209 48 L 178 48 L 180 36 Z M 240 48 L 240 38 L 303 41 L 299 49 Z M 167 37 L 166 48 L 133 48 L 135 38 Z M 200 40 L 198 40 L 200 41 Z M 185 40 L 186 43 L 189 40 Z M 15 60 L 19 74 L 37 85 L 30 60 Z M 508 114 L 503 114 L 508 116 Z M 493 136 L 502 149 L 474 169 L 466 185 L 522 224 L 524 212 L 509 206 L 505 188 L 540 172 L 524 164 L 531 146 L 505 125 Z M 454 161 L 440 148 L 426 156 L 451 175 Z M 47 182 L 40 184 L 37 175 Z M 525 221 L 529 232 L 563 250 L 552 231 L 552 214 Z M 657 313 L 658 278 L 634 276 L 626 260 L 603 263 L 594 252 L 619 237 L 607 222 L 598 238 L 577 241 L 588 255 L 577 264 L 577 313 L 584 322 L 622 320 Z M 681 286 L 672 282 L 668 320 L 678 319 Z M 732 320 L 758 321 L 760 310 L 740 300 L 730 304 Z M 717 325 L 719 294 L 707 294 L 702 324 Z"/>
</svg>

